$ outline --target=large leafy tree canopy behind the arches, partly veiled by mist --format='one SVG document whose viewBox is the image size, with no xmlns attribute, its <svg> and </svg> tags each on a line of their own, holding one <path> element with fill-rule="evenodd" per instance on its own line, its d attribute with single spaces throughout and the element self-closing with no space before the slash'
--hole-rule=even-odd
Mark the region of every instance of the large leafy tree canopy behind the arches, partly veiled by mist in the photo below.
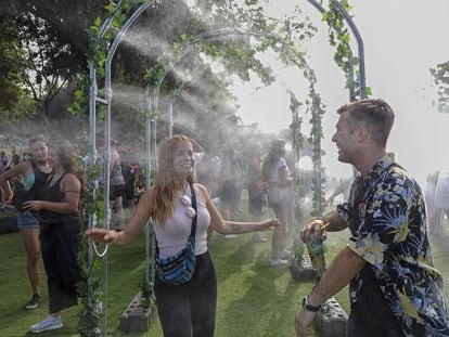
<svg viewBox="0 0 449 337">
<path fill-rule="evenodd" d="M 5 99 L 1 109 L 12 111 L 18 98 L 25 95 L 37 112 L 34 113 L 34 108 L 28 106 L 29 113 L 17 113 L 17 118 L 66 117 L 67 113 L 62 112 L 60 105 L 55 111 L 51 103 L 61 90 L 72 90 L 68 83 L 74 78 L 79 79 L 81 74 L 87 73 L 92 52 L 89 49 L 92 26 L 95 22 L 102 22 L 111 5 L 108 1 L 98 0 L 59 0 L 51 3 L 41 0 L 7 1 L 1 23 L 9 29 L 0 31 L 2 46 L 5 47 L 0 54 L 0 70 L 8 74 L 2 81 Z M 114 118 L 121 128 L 126 128 L 120 131 L 136 128 L 142 131 L 144 125 L 143 99 L 140 103 L 139 100 L 127 102 L 123 99 L 127 92 L 132 92 L 133 96 L 140 90 L 143 93 L 143 88 L 151 85 L 152 76 L 157 76 L 157 67 L 164 56 L 175 54 L 177 46 L 191 37 L 223 27 L 270 33 L 294 48 L 295 43 L 310 38 L 315 33 L 315 27 L 299 10 L 288 17 L 267 17 L 257 0 L 247 0 L 243 4 L 231 0 L 195 0 L 189 5 L 179 0 L 155 1 L 127 34 L 113 62 Z M 229 138 L 229 133 L 233 132 L 231 130 L 240 124 L 230 91 L 231 79 L 238 76 L 248 81 L 252 76 L 258 76 L 266 85 L 275 80 L 271 69 L 260 62 L 257 54 L 274 42 L 269 39 L 255 43 L 249 38 L 224 38 L 204 43 L 196 52 L 179 60 L 167 74 L 161 87 L 161 109 L 166 111 L 169 102 L 174 102 L 176 114 L 182 115 L 182 120 L 190 120 L 198 132 L 208 130 L 215 122 L 230 127 L 230 130 L 217 130 L 215 139 L 218 143 Z M 13 53 L 20 57 L 12 56 Z M 284 62 L 288 62 L 287 59 Z M 177 91 L 178 94 L 174 95 Z M 86 114 L 87 107 L 82 104 L 75 113 Z M 164 128 L 164 118 L 159 120 Z M 180 132 L 188 131 L 182 129 L 182 125 L 175 127 Z M 207 138 L 206 134 L 204 137 Z"/>
</svg>

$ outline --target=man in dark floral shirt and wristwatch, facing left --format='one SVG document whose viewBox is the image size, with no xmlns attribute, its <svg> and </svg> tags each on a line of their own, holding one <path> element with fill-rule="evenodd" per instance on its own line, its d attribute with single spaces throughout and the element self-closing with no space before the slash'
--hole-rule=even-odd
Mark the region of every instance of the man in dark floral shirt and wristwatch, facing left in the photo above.
<svg viewBox="0 0 449 337">
<path fill-rule="evenodd" d="M 351 237 L 296 314 L 298 336 L 311 335 L 321 304 L 350 283 L 347 336 L 449 336 L 441 287 L 433 267 L 423 193 L 386 154 L 394 112 L 382 100 L 342 106 L 332 141 L 352 164 L 349 200 L 302 230 L 302 239 L 349 228 Z"/>
</svg>

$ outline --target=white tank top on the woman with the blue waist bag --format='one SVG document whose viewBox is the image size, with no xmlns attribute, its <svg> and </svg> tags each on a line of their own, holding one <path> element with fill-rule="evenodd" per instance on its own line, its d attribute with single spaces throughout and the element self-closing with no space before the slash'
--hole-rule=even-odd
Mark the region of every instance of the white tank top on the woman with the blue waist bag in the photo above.
<svg viewBox="0 0 449 337">
<path fill-rule="evenodd" d="M 191 197 L 189 186 L 185 194 Z M 155 221 L 154 232 L 162 259 L 185 248 L 192 229 L 192 218 L 188 216 L 187 208 L 188 206 L 181 202 L 180 195 L 178 195 L 172 217 L 168 218 L 163 225 Z M 195 255 L 202 255 L 207 251 L 207 228 L 210 224 L 210 215 L 206 205 L 198 197 L 196 197 L 196 213 Z"/>
</svg>

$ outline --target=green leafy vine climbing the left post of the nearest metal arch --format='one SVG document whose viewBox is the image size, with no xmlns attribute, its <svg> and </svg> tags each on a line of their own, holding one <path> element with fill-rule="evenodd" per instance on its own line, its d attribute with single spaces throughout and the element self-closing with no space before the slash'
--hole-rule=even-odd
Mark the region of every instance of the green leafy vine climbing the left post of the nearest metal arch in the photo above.
<svg viewBox="0 0 449 337">
<path fill-rule="evenodd" d="M 89 36 L 90 55 L 89 67 L 92 62 L 95 64 L 97 82 L 104 80 L 104 68 L 107 57 L 107 51 L 111 42 L 114 40 L 117 29 L 119 29 L 129 16 L 136 5 L 143 3 L 143 0 L 126 0 L 121 2 L 120 7 L 116 7 L 113 1 L 105 7 L 105 17 L 112 20 L 111 27 L 105 31 L 103 37 L 99 37 L 103 20 L 97 17 L 93 25 L 87 30 Z M 104 95 L 104 90 L 100 89 L 97 95 Z M 74 91 L 74 102 L 68 108 L 72 114 L 80 116 L 88 115 L 90 101 L 90 75 L 81 74 L 78 77 L 77 86 Z M 105 107 L 100 105 L 98 107 L 97 117 L 99 120 L 104 119 Z M 82 226 L 88 229 L 89 215 L 97 218 L 97 222 L 101 223 L 104 219 L 104 202 L 102 192 L 98 189 L 97 182 L 101 172 L 101 159 L 95 158 L 93 166 L 85 171 L 87 184 L 82 191 Z M 81 297 L 82 309 L 78 313 L 78 333 L 82 337 L 99 337 L 102 336 L 101 328 L 101 301 L 104 294 L 101 289 L 101 265 L 99 259 L 93 256 L 92 263 L 89 261 L 89 244 L 87 241 L 81 241 L 78 262 L 81 269 L 82 278 L 78 283 L 78 290 Z"/>
</svg>

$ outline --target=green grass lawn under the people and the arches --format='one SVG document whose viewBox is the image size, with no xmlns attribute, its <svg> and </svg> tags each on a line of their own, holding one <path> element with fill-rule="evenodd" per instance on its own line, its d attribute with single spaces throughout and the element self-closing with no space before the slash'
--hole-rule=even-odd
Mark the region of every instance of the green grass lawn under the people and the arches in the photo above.
<svg viewBox="0 0 449 337">
<path fill-rule="evenodd" d="M 449 238 L 449 232 L 446 233 Z M 267 237 L 271 235 L 267 233 Z M 330 233 L 328 260 L 346 244 L 346 232 Z M 449 246 L 440 241 L 434 246 L 436 267 L 449 280 Z M 312 283 L 295 283 L 287 268 L 267 265 L 270 244 L 253 244 L 251 234 L 234 239 L 216 236 L 210 247 L 218 273 L 218 310 L 216 336 L 232 337 L 290 337 L 294 334 L 294 314 L 302 298 L 310 291 Z M 144 238 L 139 237 L 130 246 L 110 250 L 110 286 L 107 330 L 111 336 L 121 336 L 118 330 L 120 313 L 139 291 L 144 272 Z M 47 314 L 48 296 L 46 275 L 41 265 L 42 303 L 27 311 L 25 302 L 30 296 L 25 271 L 25 252 L 18 233 L 0 235 L 0 336 L 31 335 L 27 330 Z M 449 282 L 449 281 L 447 281 Z M 448 298 L 448 288 L 445 289 Z M 336 296 L 348 311 L 347 290 Z M 77 312 L 80 307 L 63 312 L 63 328 L 40 336 L 76 336 Z M 33 335 L 34 336 L 34 335 Z M 145 334 L 127 336 L 162 336 L 155 316 Z M 318 336 L 318 334 L 316 335 Z"/>
</svg>

